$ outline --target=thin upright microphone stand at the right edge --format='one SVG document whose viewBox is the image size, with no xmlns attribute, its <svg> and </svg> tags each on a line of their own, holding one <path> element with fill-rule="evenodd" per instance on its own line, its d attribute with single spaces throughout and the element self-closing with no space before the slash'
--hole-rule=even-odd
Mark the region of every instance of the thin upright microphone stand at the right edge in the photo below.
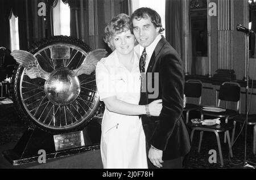
<svg viewBox="0 0 256 180">
<path fill-rule="evenodd" d="M 246 89 L 245 89 L 245 158 L 243 161 L 243 168 L 244 169 L 255 169 L 253 165 L 250 165 L 249 162 L 246 160 L 246 141 L 247 141 L 247 122 L 248 122 L 248 90 L 249 90 L 249 36 L 250 32 L 246 32 Z"/>
</svg>

